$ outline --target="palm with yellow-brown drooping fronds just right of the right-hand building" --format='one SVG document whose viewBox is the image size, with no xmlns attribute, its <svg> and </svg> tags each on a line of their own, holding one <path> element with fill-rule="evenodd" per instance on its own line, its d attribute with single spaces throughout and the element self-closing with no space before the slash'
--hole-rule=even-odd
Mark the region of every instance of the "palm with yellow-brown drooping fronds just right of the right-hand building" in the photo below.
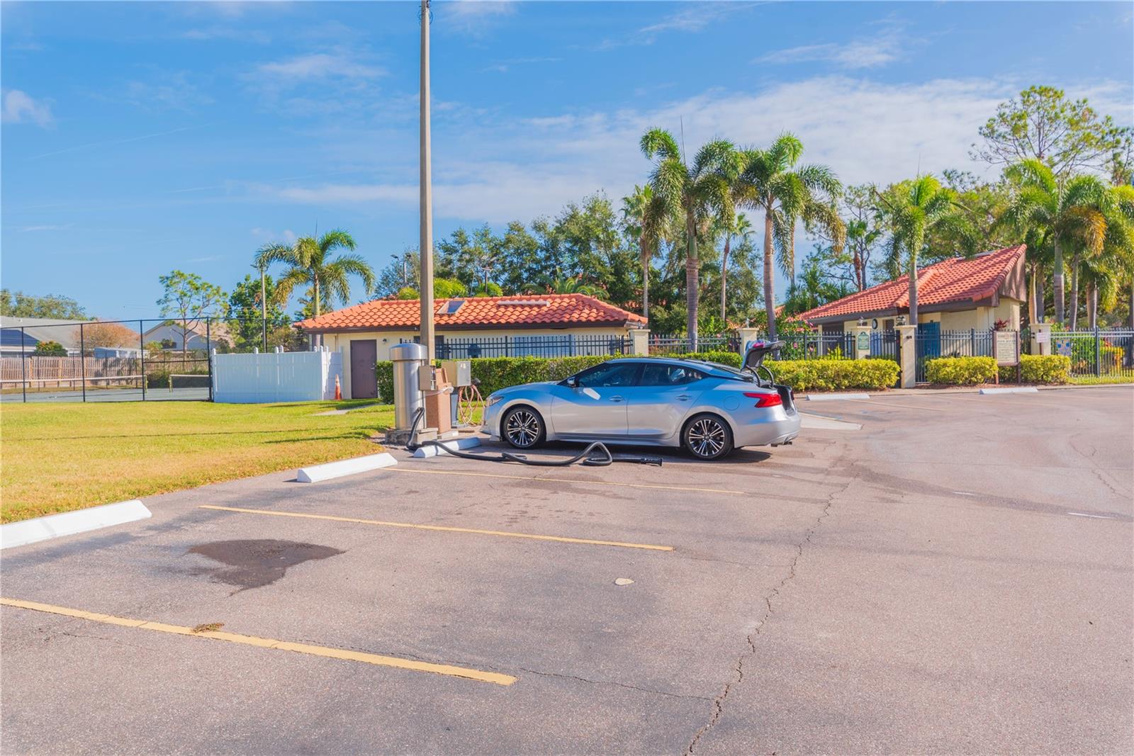
<svg viewBox="0 0 1134 756">
<path fill-rule="evenodd" d="M 1074 249 L 1073 278 L 1082 253 L 1101 253 L 1107 223 L 1100 207 L 1107 203 L 1108 187 L 1088 175 L 1064 180 L 1034 159 L 1009 165 L 1005 176 L 1014 190 L 1002 221 L 1017 228 L 1036 229 L 1051 240 L 1055 315 L 1056 322 L 1063 323 L 1066 314 L 1064 250 L 1067 245 Z"/>
</svg>

